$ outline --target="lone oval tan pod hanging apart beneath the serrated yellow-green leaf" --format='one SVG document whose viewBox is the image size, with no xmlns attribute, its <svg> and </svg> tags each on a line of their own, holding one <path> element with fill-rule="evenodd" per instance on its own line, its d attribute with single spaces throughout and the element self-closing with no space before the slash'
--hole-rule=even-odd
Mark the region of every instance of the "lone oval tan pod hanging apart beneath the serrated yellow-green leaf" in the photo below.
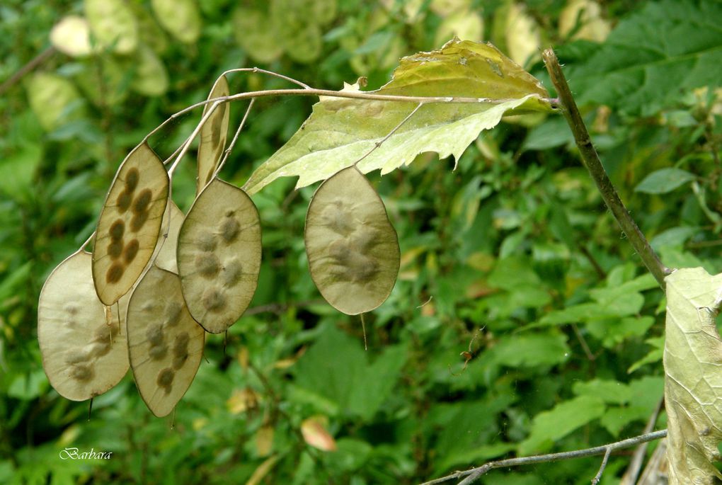
<svg viewBox="0 0 722 485">
<path fill-rule="evenodd" d="M 336 173 L 313 195 L 305 228 L 311 278 L 340 312 L 381 305 L 399 274 L 399 240 L 386 207 L 356 167 Z"/>
</svg>

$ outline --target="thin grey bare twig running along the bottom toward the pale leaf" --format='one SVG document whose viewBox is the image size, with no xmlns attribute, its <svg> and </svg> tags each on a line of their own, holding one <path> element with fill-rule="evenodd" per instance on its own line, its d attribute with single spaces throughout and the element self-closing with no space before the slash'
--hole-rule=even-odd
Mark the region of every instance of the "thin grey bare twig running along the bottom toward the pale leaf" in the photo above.
<svg viewBox="0 0 722 485">
<path fill-rule="evenodd" d="M 477 481 L 479 476 L 484 475 L 484 473 L 487 473 L 494 468 L 508 468 L 511 466 L 533 465 L 534 463 L 549 463 L 552 461 L 571 460 L 573 458 L 584 458 L 587 456 L 602 455 L 606 453 L 612 453 L 612 451 L 614 450 L 620 450 L 622 448 L 639 445 L 640 443 L 659 440 L 660 438 L 666 437 L 666 435 L 667 430 L 662 429 L 661 431 L 641 434 L 640 436 L 627 438 L 627 440 L 609 443 L 609 445 L 586 448 L 584 450 L 565 451 L 562 453 L 549 453 L 548 455 L 526 456 L 522 458 L 509 458 L 508 460 L 490 461 L 489 463 L 485 463 L 484 465 L 478 466 L 477 468 L 471 468 L 470 470 L 464 471 L 456 471 L 455 473 L 451 473 L 451 475 L 448 476 L 443 476 L 440 479 L 425 481 L 421 485 L 441 484 L 445 481 L 461 479 L 462 477 L 466 478 L 459 482 L 458 485 L 469 485 L 473 484 L 474 481 Z"/>
</svg>

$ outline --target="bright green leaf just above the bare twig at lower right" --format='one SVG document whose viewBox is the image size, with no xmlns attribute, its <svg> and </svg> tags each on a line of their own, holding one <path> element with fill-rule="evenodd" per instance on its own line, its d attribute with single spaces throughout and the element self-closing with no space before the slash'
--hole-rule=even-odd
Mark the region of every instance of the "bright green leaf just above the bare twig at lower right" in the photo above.
<svg viewBox="0 0 722 485">
<path fill-rule="evenodd" d="M 550 411 L 534 416 L 531 434 L 518 446 L 519 455 L 546 450 L 554 441 L 567 436 L 604 414 L 604 401 L 596 396 L 579 396 L 557 404 Z"/>
</svg>

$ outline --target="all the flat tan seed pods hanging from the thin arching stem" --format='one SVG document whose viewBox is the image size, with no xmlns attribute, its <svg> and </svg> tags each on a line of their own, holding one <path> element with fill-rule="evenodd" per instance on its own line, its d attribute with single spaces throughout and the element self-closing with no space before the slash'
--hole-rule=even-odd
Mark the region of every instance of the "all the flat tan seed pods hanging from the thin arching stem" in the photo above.
<svg viewBox="0 0 722 485">
<path fill-rule="evenodd" d="M 210 97 L 228 92 L 222 77 Z M 217 178 L 228 128 L 228 110 L 219 106 L 201 128 L 197 195 L 188 214 L 170 200 L 160 158 L 140 144 L 110 186 L 92 255 L 81 248 L 45 281 L 38 341 L 61 396 L 99 396 L 131 367 L 150 411 L 165 416 L 196 375 L 206 331 L 227 331 L 250 304 L 261 269 L 261 224 L 251 198 Z M 313 281 L 337 310 L 365 313 L 391 293 L 399 271 L 396 231 L 355 167 L 316 191 L 305 243 Z"/>
</svg>

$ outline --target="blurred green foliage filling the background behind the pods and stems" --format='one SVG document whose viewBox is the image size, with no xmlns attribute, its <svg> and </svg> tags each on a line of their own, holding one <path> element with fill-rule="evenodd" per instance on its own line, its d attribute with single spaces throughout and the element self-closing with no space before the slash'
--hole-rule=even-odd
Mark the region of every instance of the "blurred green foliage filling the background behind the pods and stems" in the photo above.
<svg viewBox="0 0 722 485">
<path fill-rule="evenodd" d="M 53 26 L 87 14 L 85 3 L 2 2 L 0 79 L 49 48 Z M 366 76 L 376 88 L 399 56 L 454 32 L 504 46 L 541 79 L 536 49 L 559 48 L 604 164 L 664 263 L 719 271 L 722 38 L 703 31 L 722 25 L 716 2 L 119 5 L 135 22 L 123 48 L 98 38 L 90 57 L 45 53 L 0 88 L 0 482 L 414 484 L 509 453 L 641 432 L 662 396 L 664 299 L 561 117 L 510 120 L 456 171 L 421 155 L 406 170 L 370 174 L 399 232 L 401 274 L 367 315 L 367 352 L 360 321 L 326 305 L 308 274 L 313 187 L 292 191 L 294 180 L 281 179 L 256 194 L 264 262 L 251 310 L 227 341 L 209 336 L 173 419 L 152 417 L 130 375 L 95 400 L 90 421 L 87 403 L 58 396 L 40 363 L 38 294 L 92 232 L 129 149 L 204 100 L 223 70 L 256 65 L 328 89 Z M 286 85 L 231 79 L 235 92 Z M 243 184 L 312 102 L 259 99 L 225 178 Z M 232 107 L 232 123 L 244 108 Z M 152 146 L 168 157 L 198 118 L 175 119 Z M 173 192 L 184 210 L 195 187 L 188 158 Z M 314 416 L 335 451 L 308 445 L 302 424 Z M 113 456 L 62 460 L 66 447 Z M 582 484 L 598 466 L 495 471 L 484 483 Z M 602 483 L 617 483 L 626 466 L 612 457 Z"/>
</svg>

